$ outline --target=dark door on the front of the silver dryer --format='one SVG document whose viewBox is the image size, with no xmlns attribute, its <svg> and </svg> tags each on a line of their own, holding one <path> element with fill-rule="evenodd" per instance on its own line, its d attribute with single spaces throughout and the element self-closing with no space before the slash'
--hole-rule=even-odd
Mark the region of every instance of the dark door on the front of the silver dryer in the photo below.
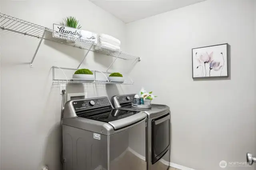
<svg viewBox="0 0 256 170">
<path fill-rule="evenodd" d="M 168 151 L 170 144 L 170 114 L 152 120 L 152 164 Z"/>
</svg>

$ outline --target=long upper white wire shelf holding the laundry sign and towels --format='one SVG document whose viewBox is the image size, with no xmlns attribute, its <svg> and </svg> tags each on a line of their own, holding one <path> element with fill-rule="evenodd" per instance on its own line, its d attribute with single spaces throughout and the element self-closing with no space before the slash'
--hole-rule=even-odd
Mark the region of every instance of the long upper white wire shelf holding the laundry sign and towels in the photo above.
<svg viewBox="0 0 256 170">
<path fill-rule="evenodd" d="M 139 56 L 134 56 L 134 55 L 128 54 L 126 52 L 114 50 L 114 49 L 111 49 L 111 48 L 108 48 L 108 47 L 105 47 L 105 46 L 101 46 L 99 44 L 93 44 L 93 43 L 90 43 L 90 42 L 85 42 L 85 40 L 83 40 L 81 38 L 76 38 L 72 35 L 64 34 L 62 32 L 57 32 L 57 31 L 52 30 L 50 28 L 46 28 L 46 27 L 40 26 L 38 24 L 33 24 L 31 22 L 21 20 L 19 18 L 15 18 L 13 16 L 3 14 L 3 13 L 0 13 L 0 28 L 2 28 L 3 30 L 9 30 L 9 31 L 12 31 L 12 32 L 17 32 L 17 33 L 20 33 L 20 34 L 24 34 L 24 35 L 27 35 L 27 36 L 32 36 L 32 37 L 36 37 L 36 38 L 41 39 L 39 44 L 38 44 L 38 47 L 36 49 L 36 52 L 35 52 L 35 54 L 32 58 L 32 61 L 30 62 L 31 67 L 32 67 L 32 63 L 34 61 L 34 58 L 36 56 L 36 53 L 38 51 L 38 48 L 40 47 L 40 44 L 41 44 L 43 39 L 59 42 L 59 43 L 62 43 L 62 44 L 67 44 L 67 45 L 74 46 L 74 47 L 77 47 L 77 48 L 81 48 L 81 49 L 84 49 L 84 50 L 88 50 L 88 52 L 89 51 L 100 52 L 102 54 L 114 56 L 116 58 L 121 58 L 121 59 L 124 59 L 124 60 L 138 60 L 138 61 L 140 61 L 140 59 L 141 59 Z M 62 36 L 62 37 L 66 36 L 68 38 L 71 38 L 72 40 L 66 40 L 66 39 L 62 39 L 62 38 L 55 38 L 55 37 L 53 37 L 53 33 L 58 34 L 59 36 Z"/>
</svg>

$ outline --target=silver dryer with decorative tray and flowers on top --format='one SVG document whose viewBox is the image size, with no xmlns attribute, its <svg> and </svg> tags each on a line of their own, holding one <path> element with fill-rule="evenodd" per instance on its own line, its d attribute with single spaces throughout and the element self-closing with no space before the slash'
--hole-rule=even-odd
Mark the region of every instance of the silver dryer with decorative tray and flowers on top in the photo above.
<svg viewBox="0 0 256 170">
<path fill-rule="evenodd" d="M 140 111 L 148 115 L 146 130 L 147 170 L 167 170 L 170 166 L 170 108 L 152 104 L 143 109 L 131 106 L 135 94 L 113 96 L 112 105 L 118 110 Z"/>
</svg>

